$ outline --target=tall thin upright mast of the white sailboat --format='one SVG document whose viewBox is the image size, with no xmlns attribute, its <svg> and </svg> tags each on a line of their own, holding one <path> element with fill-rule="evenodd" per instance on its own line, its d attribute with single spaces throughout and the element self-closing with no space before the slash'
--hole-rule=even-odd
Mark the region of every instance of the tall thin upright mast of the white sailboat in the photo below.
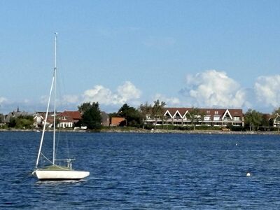
<svg viewBox="0 0 280 210">
<path fill-rule="evenodd" d="M 57 82 L 57 32 L 55 32 L 55 68 L 53 69 L 54 78 L 54 109 L 53 109 L 53 146 L 52 146 L 52 164 L 55 165 L 55 126 L 56 126 L 56 82 Z"/>
</svg>

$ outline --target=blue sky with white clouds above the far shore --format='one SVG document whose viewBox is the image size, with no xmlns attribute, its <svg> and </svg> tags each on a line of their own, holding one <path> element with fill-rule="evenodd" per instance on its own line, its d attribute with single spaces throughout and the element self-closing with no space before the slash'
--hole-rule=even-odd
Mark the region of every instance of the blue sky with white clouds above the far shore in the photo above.
<svg viewBox="0 0 280 210">
<path fill-rule="evenodd" d="M 280 1 L 0 1 L 0 113 L 280 106 Z"/>
</svg>

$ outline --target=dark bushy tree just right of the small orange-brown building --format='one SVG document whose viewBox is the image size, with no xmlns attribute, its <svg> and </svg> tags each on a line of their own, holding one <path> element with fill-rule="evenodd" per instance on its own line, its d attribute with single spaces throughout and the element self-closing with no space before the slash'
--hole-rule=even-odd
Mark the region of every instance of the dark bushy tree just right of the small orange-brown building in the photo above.
<svg viewBox="0 0 280 210">
<path fill-rule="evenodd" d="M 141 113 L 132 106 L 128 104 L 123 104 L 123 106 L 118 111 L 118 116 L 125 118 L 125 125 L 132 127 L 141 126 Z"/>
</svg>

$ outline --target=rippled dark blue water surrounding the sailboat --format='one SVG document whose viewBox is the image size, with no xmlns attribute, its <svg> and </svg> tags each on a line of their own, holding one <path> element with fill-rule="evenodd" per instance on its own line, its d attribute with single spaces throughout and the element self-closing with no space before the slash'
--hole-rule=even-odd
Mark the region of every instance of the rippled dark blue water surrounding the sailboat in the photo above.
<svg viewBox="0 0 280 210">
<path fill-rule="evenodd" d="M 0 209 L 280 209 L 280 136 L 64 133 L 90 176 L 54 182 L 40 135 L 0 132 Z"/>
</svg>

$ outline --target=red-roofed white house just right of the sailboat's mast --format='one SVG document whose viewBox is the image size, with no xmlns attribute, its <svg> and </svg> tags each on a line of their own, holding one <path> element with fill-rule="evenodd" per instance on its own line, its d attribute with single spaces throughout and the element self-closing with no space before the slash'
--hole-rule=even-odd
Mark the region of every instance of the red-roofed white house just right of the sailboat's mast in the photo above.
<svg viewBox="0 0 280 210">
<path fill-rule="evenodd" d="M 57 115 L 58 124 L 57 127 L 73 128 L 80 121 L 82 116 L 79 111 L 64 111 Z"/>
</svg>

